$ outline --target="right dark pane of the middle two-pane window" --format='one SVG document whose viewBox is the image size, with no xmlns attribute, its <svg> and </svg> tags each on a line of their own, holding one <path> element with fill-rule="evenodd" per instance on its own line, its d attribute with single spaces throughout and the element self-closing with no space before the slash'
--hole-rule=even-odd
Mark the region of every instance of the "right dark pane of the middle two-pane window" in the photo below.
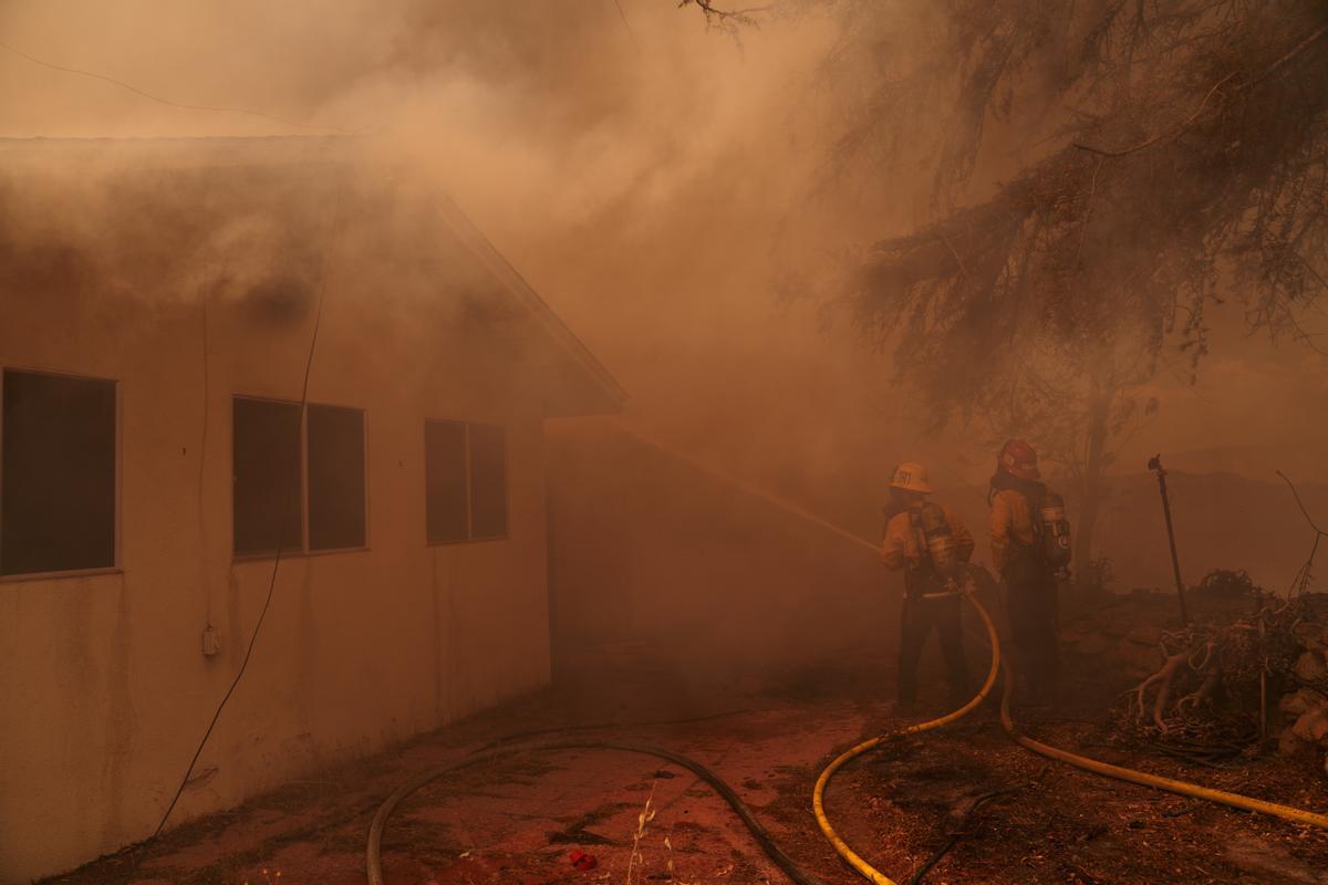
<svg viewBox="0 0 1328 885">
<path fill-rule="evenodd" d="M 309 406 L 309 549 L 364 547 L 364 413 Z"/>
</svg>

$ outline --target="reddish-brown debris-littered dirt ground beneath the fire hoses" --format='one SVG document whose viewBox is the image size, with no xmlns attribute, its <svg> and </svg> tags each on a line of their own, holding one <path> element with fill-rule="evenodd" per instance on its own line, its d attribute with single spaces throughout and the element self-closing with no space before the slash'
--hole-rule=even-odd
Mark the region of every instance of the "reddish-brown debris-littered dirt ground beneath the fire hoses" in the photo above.
<svg viewBox="0 0 1328 885">
<path fill-rule="evenodd" d="M 972 653 L 984 658 L 981 649 Z M 939 673 L 938 665 L 930 673 Z M 461 770 L 404 801 L 382 844 L 386 882 L 788 881 L 691 772 L 622 751 L 529 748 L 572 736 L 695 758 L 732 784 L 805 869 L 827 885 L 858 882 L 817 828 L 811 785 L 831 751 L 898 724 L 888 714 L 891 670 L 884 650 L 866 650 L 834 667 L 790 669 L 760 681 L 728 673 L 706 682 L 695 666 L 645 649 L 602 649 L 564 667 L 572 675 L 538 695 L 286 784 L 145 849 L 48 881 L 359 885 L 369 820 L 402 780 L 506 735 L 574 726 L 571 734 L 513 742 L 526 748 Z M 1263 758 L 1199 768 L 1113 746 L 1102 686 L 1092 673 L 1070 675 L 1070 701 L 1054 715 L 1024 713 L 1035 736 L 1173 778 L 1328 807 L 1328 782 L 1309 762 Z M 939 705 L 942 687 L 931 686 L 931 694 Z M 973 807 L 988 793 L 996 795 Z M 629 878 L 647 803 L 655 815 Z M 952 839 L 923 881 L 1328 882 L 1328 833 L 1049 763 L 1013 744 L 991 709 L 851 763 L 833 782 L 827 809 L 846 841 L 899 882 Z M 572 852 L 594 854 L 595 869 L 574 868 Z"/>
</svg>

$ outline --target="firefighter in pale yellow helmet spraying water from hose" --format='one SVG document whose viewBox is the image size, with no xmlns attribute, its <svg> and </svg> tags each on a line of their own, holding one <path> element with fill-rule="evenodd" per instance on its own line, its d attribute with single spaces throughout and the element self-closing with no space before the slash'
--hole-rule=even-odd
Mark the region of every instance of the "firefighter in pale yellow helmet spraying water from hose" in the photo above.
<svg viewBox="0 0 1328 885">
<path fill-rule="evenodd" d="M 928 500 L 927 468 L 906 462 L 890 480 L 888 521 L 880 560 L 903 569 L 904 602 L 899 617 L 896 713 L 908 715 L 918 701 L 918 662 L 927 636 L 936 630 L 946 658 L 951 701 L 968 701 L 971 681 L 960 633 L 961 568 L 973 553 L 973 536 L 948 508 Z"/>
</svg>

